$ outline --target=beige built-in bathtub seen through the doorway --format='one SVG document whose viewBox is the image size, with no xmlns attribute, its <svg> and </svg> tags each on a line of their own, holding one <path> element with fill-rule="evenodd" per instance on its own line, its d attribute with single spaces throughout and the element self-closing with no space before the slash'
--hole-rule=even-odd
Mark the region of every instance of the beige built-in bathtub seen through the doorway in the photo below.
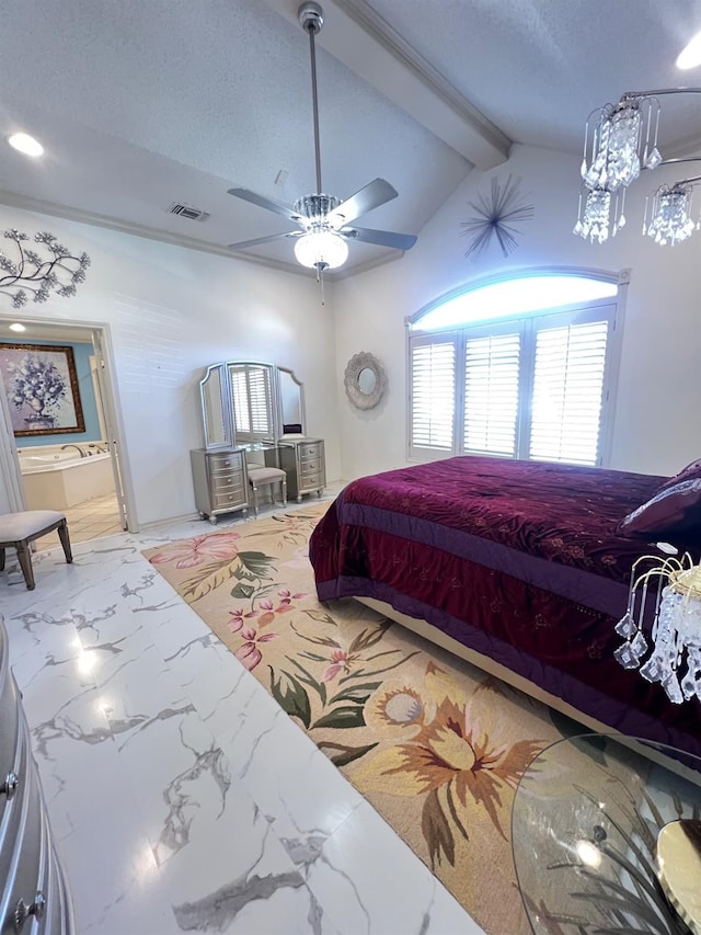
<svg viewBox="0 0 701 935">
<path fill-rule="evenodd" d="M 88 445 L 81 448 L 88 451 Z M 42 445 L 18 448 L 27 510 L 65 510 L 114 492 L 112 455 L 88 455 L 76 448 Z"/>
</svg>

